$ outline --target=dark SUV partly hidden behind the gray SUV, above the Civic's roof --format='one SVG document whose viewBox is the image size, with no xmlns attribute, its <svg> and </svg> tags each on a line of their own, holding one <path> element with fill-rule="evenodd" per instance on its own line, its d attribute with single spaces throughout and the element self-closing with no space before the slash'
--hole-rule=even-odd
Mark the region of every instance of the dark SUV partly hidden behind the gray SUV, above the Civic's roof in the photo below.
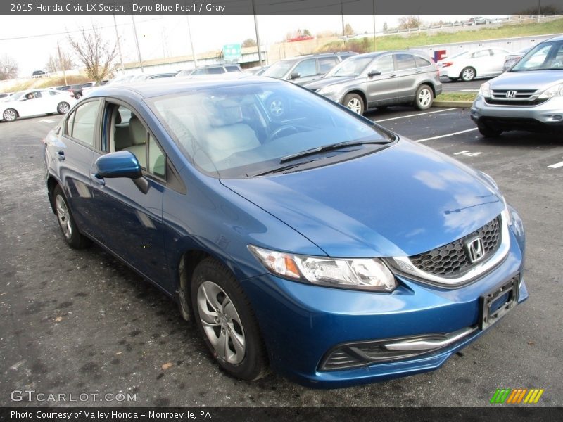
<svg viewBox="0 0 563 422">
<path fill-rule="evenodd" d="M 319 79 L 334 66 L 348 57 L 357 55 L 353 51 L 339 53 L 308 54 L 279 60 L 262 73 L 262 76 L 285 79 L 294 84 L 303 85 Z"/>
</svg>

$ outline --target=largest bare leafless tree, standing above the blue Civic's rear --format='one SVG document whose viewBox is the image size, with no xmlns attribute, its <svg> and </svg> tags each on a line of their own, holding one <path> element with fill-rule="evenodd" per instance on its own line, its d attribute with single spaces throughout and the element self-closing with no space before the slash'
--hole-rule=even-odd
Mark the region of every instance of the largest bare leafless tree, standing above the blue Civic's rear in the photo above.
<svg viewBox="0 0 563 422">
<path fill-rule="evenodd" d="M 68 36 L 68 42 L 86 67 L 90 79 L 100 82 L 106 79 L 112 70 L 113 60 L 117 56 L 118 44 L 110 44 L 101 37 L 99 27 L 92 25 L 91 30 L 81 28 L 78 39 Z"/>
</svg>

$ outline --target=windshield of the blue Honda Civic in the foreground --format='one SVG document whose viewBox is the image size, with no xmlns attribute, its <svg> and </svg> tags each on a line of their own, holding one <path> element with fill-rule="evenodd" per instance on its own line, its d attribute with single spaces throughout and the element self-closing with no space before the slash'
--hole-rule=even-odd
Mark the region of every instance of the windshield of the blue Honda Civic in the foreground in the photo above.
<svg viewBox="0 0 563 422">
<path fill-rule="evenodd" d="M 351 150 L 365 148 L 369 153 L 381 148 L 374 141 L 391 141 L 369 121 L 293 84 L 262 82 L 189 91 L 154 98 L 151 108 L 199 170 L 222 178 L 267 172 L 279 166 L 281 158 L 320 146 L 372 142 L 322 156 L 344 157 Z"/>
</svg>

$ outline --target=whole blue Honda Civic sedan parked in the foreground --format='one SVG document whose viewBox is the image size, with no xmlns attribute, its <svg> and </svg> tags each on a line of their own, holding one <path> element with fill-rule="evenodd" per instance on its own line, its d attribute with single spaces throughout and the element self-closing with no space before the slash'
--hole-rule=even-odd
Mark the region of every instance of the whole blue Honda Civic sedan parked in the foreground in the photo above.
<svg viewBox="0 0 563 422">
<path fill-rule="evenodd" d="M 243 380 L 437 369 L 528 296 L 491 177 L 288 82 L 102 87 L 45 160 L 65 241 L 160 287 Z"/>
</svg>

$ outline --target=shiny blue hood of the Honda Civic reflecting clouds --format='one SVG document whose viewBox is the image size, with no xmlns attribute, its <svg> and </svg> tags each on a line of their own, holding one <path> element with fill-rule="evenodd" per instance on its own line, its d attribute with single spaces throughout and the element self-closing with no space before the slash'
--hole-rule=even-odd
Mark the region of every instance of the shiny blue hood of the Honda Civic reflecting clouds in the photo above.
<svg viewBox="0 0 563 422">
<path fill-rule="evenodd" d="M 332 257 L 415 255 L 504 209 L 481 174 L 405 140 L 335 165 L 221 182 Z M 265 246 L 275 249 L 275 240 Z"/>
</svg>

